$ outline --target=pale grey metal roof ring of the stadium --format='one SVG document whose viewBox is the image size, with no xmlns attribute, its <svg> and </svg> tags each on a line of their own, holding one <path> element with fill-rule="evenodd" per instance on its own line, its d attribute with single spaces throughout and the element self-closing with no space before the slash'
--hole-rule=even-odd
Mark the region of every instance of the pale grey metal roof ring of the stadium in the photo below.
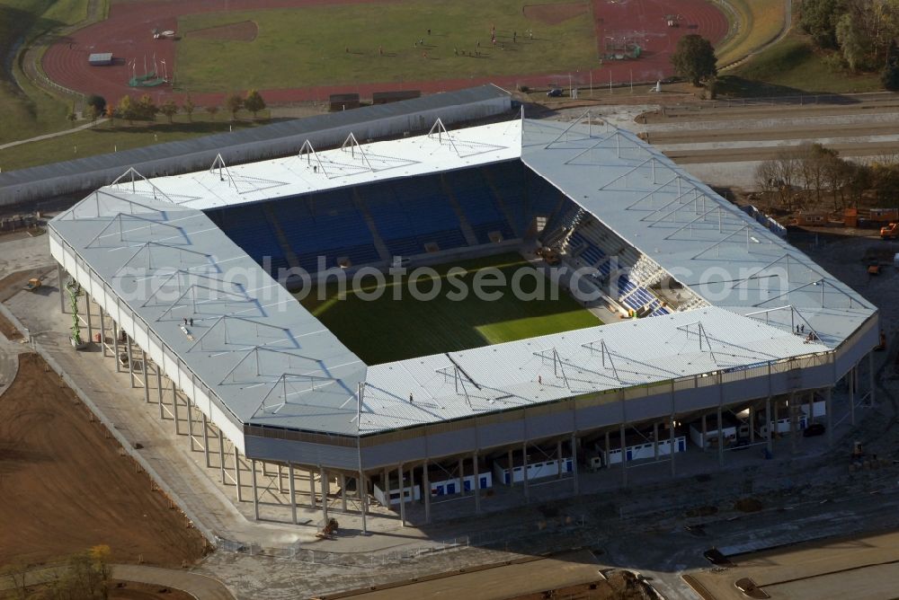
<svg viewBox="0 0 899 600">
<path fill-rule="evenodd" d="M 202 212 L 519 159 L 711 305 L 367 366 Z M 93 297 L 127 306 L 135 331 L 174 353 L 236 427 L 365 436 L 756 369 L 832 353 L 877 313 L 652 146 L 591 119 L 437 124 L 188 175 L 131 172 L 50 234 L 58 262 Z M 154 360 L 171 376 L 174 359 Z"/>
</svg>

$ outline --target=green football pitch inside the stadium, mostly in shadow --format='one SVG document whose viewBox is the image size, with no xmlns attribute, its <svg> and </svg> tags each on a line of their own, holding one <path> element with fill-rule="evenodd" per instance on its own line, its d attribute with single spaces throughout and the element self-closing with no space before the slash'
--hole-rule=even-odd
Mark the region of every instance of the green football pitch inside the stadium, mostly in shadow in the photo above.
<svg viewBox="0 0 899 600">
<path fill-rule="evenodd" d="M 464 269 L 465 274 L 453 268 Z M 432 273 L 414 282 L 425 296 L 439 286 L 433 299 L 413 297 L 409 277 L 387 276 L 378 284 L 369 276 L 360 279 L 355 292 L 348 285 L 343 299 L 332 282 L 324 294 L 313 288 L 300 302 L 369 365 L 601 325 L 519 254 L 464 260 L 434 270 L 436 277 Z M 504 286 L 482 287 L 494 295 L 499 292 L 498 299 L 473 293 L 476 280 L 501 278 Z M 469 293 L 459 291 L 463 286 Z M 516 287 L 521 295 L 512 293 Z M 394 299 L 397 292 L 399 300 Z"/>
</svg>

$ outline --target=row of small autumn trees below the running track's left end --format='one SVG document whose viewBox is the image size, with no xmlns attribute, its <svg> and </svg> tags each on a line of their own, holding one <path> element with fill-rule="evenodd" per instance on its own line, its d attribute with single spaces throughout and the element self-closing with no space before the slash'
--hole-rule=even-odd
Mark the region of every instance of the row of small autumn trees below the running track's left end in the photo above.
<svg viewBox="0 0 899 600">
<path fill-rule="evenodd" d="M 253 113 L 255 119 L 260 110 L 265 110 L 265 100 L 263 96 L 256 90 L 248 90 L 244 96 L 237 93 L 229 93 L 225 97 L 225 109 L 231 113 L 231 119 L 237 117 L 240 110 L 249 110 Z M 156 115 L 162 114 L 168 119 L 169 123 L 173 122 L 174 116 L 178 112 L 183 111 L 187 115 L 188 120 L 193 120 L 193 113 L 197 110 L 197 105 L 188 94 L 182 104 L 179 106 L 174 100 L 167 100 L 162 104 L 156 104 L 153 97 L 145 93 L 138 100 L 134 100 L 131 96 L 123 96 L 120 101 L 113 105 L 106 102 L 106 99 L 99 95 L 92 95 L 87 98 L 86 112 L 92 121 L 106 117 L 113 123 L 115 119 L 124 119 L 129 123 L 134 121 L 153 121 Z M 210 105 L 206 107 L 206 111 L 215 117 L 218 113 L 218 105 Z"/>
</svg>

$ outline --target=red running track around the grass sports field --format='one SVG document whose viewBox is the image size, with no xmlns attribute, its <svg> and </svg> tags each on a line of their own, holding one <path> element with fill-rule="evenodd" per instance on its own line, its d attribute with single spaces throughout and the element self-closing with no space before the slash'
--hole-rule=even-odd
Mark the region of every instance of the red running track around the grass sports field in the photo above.
<svg viewBox="0 0 899 600">
<path fill-rule="evenodd" d="M 171 77 L 175 69 L 174 40 L 154 40 L 151 31 L 177 31 L 177 18 L 183 14 L 212 13 L 226 10 L 260 10 L 263 8 L 299 7 L 310 4 L 360 4 L 385 2 L 385 0 L 183 0 L 181 2 L 127 2 L 112 4 L 109 19 L 94 23 L 60 40 L 45 53 L 42 61 L 44 72 L 56 83 L 81 93 L 99 93 L 107 101 L 118 101 L 130 94 L 138 96 L 151 93 L 157 102 L 169 98 L 183 101 L 184 93 L 174 93 L 171 85 L 154 88 L 132 88 L 128 85 L 129 66 L 125 59 L 137 59 L 138 75 L 152 69 L 154 56 L 160 75 L 162 63 Z M 536 73 L 519 76 L 496 76 L 445 79 L 440 81 L 404 82 L 403 84 L 349 84 L 307 88 L 261 90 L 270 104 L 291 101 L 324 101 L 331 93 L 359 93 L 369 98 L 372 92 L 406 89 L 435 93 L 457 90 L 472 85 L 493 83 L 507 89 L 518 84 L 532 87 L 547 84 L 571 83 L 594 87 L 635 82 L 653 82 L 672 75 L 669 57 L 677 40 L 688 33 L 699 33 L 712 43 L 722 40 L 727 32 L 727 20 L 707 0 L 592 0 L 596 20 L 597 50 L 605 55 L 604 40 L 607 36 L 624 37 L 636 41 L 643 50 L 636 59 L 603 60 L 595 69 L 574 73 Z M 679 14 L 679 27 L 668 27 L 665 15 Z M 112 52 L 120 64 L 114 66 L 89 66 L 87 57 L 92 52 Z M 237 85 L 239 87 L 239 84 Z M 193 93 L 193 100 L 200 106 L 220 103 L 222 93 Z"/>
</svg>

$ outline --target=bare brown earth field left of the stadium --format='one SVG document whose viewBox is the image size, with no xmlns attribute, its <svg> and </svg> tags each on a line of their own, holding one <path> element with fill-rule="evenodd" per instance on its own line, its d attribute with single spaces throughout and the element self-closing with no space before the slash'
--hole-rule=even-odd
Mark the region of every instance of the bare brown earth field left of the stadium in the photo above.
<svg viewBox="0 0 899 600">
<path fill-rule="evenodd" d="M 116 562 L 180 567 L 205 540 L 42 358 L 20 357 L 0 396 L 0 565 L 105 543 Z"/>
</svg>

